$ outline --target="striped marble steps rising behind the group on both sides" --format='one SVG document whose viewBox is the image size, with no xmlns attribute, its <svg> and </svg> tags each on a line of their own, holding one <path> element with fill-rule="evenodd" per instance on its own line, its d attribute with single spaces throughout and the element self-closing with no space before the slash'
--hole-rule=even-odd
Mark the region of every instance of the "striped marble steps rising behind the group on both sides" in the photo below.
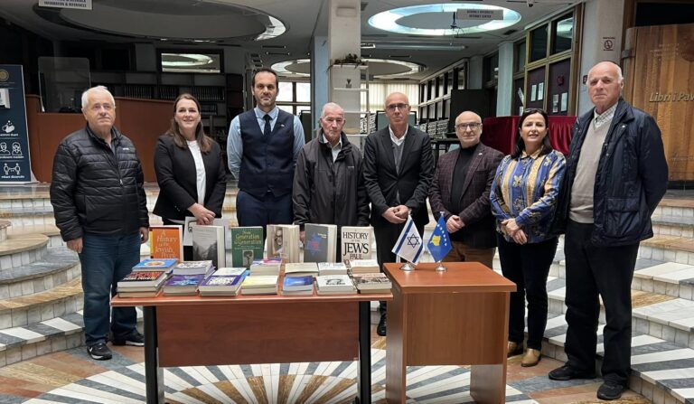
<svg viewBox="0 0 694 404">
<path fill-rule="evenodd" d="M 156 193 L 146 188 L 150 211 Z M 223 207 L 234 224 L 235 197 L 230 189 Z M 694 404 L 694 199 L 664 200 L 652 221 L 655 237 L 642 242 L 633 277 L 630 388 L 656 403 Z M 80 262 L 53 223 L 45 185 L 23 193 L 0 190 L 0 367 L 84 343 Z M 433 227 L 427 226 L 425 240 Z M 567 329 L 562 246 L 550 269 L 543 343 L 543 354 L 560 361 L 566 360 Z M 604 315 L 599 342 L 603 326 Z"/>
</svg>

